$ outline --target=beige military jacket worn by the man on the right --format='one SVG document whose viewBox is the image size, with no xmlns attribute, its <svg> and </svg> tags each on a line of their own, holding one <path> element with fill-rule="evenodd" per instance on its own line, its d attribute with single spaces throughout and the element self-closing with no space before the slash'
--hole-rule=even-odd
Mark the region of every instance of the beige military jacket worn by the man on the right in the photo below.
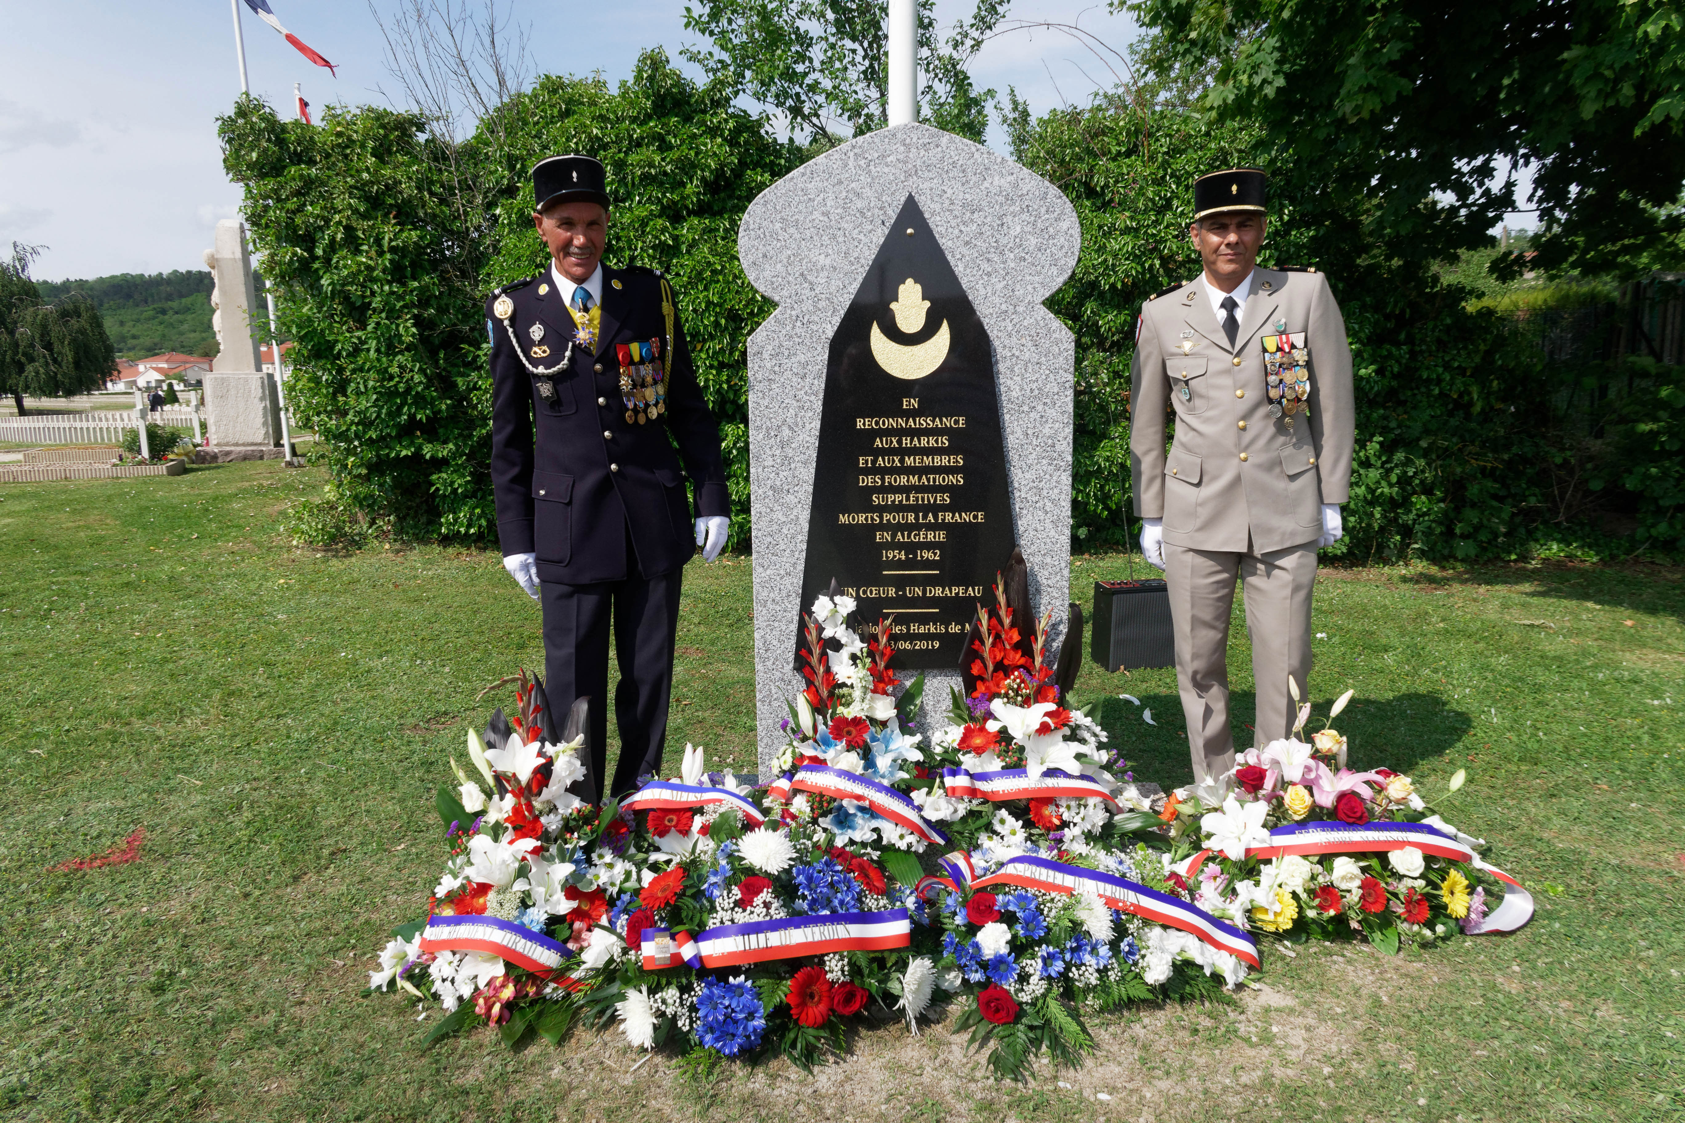
<svg viewBox="0 0 1685 1123">
<path fill-rule="evenodd" d="M 1303 332 L 1309 397 L 1272 418 L 1264 337 Z M 1131 365 L 1129 470 L 1136 514 L 1164 540 L 1257 554 L 1323 534 L 1323 503 L 1351 480 L 1351 347 L 1328 278 L 1254 269 L 1228 345 L 1203 278 L 1141 306 Z M 1176 439 L 1164 451 L 1168 409 Z"/>
</svg>

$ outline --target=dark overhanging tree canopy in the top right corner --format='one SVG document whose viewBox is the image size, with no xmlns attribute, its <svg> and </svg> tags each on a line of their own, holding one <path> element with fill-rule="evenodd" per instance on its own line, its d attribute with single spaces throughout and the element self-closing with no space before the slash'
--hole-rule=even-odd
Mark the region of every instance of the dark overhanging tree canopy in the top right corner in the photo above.
<svg viewBox="0 0 1685 1123">
<path fill-rule="evenodd" d="M 1212 74 L 1201 113 L 1318 185 L 1316 222 L 1361 212 L 1405 261 L 1486 244 L 1533 167 L 1537 268 L 1602 269 L 1677 236 L 1685 182 L 1678 0 L 1112 0 L 1159 67 Z"/>
</svg>

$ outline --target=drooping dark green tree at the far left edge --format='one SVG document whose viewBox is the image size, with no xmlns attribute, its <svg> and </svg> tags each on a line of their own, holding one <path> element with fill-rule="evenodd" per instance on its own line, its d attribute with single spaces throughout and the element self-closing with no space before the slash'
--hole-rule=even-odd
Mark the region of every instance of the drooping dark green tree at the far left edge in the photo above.
<svg viewBox="0 0 1685 1123">
<path fill-rule="evenodd" d="M 0 261 L 0 392 L 24 416 L 24 396 L 47 397 L 98 389 L 116 365 L 99 311 L 71 295 L 45 303 L 29 269 L 35 247 L 12 242 Z"/>
</svg>

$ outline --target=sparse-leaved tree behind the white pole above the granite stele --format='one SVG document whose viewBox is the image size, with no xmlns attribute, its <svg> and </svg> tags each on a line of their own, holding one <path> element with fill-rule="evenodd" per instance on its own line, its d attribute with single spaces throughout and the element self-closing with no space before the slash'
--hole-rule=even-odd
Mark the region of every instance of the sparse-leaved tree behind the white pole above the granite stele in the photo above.
<svg viewBox="0 0 1685 1123">
<path fill-rule="evenodd" d="M 918 0 L 922 120 L 982 141 L 992 89 L 972 86 L 967 64 L 1006 15 L 1009 0 L 977 0 L 944 40 L 935 0 Z M 684 27 L 714 51 L 686 51 L 716 82 L 778 113 L 792 135 L 824 150 L 888 120 L 886 0 L 701 0 Z"/>
</svg>

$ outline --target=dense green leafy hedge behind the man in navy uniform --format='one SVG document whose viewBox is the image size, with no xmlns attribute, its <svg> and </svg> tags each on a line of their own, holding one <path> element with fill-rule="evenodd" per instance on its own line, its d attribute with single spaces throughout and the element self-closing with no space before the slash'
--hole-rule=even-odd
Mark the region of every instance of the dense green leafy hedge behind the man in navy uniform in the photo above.
<svg viewBox="0 0 1685 1123">
<path fill-rule="evenodd" d="M 224 162 L 297 343 L 288 402 L 327 446 L 340 502 L 408 534 L 494 532 L 482 306 L 546 261 L 532 163 L 588 152 L 608 168 L 607 259 L 674 278 L 746 514 L 745 347 L 770 305 L 738 264 L 736 224 L 799 153 L 731 101 L 652 51 L 617 89 L 544 77 L 460 143 L 374 106 L 307 126 L 243 98 L 222 118 Z"/>
</svg>

